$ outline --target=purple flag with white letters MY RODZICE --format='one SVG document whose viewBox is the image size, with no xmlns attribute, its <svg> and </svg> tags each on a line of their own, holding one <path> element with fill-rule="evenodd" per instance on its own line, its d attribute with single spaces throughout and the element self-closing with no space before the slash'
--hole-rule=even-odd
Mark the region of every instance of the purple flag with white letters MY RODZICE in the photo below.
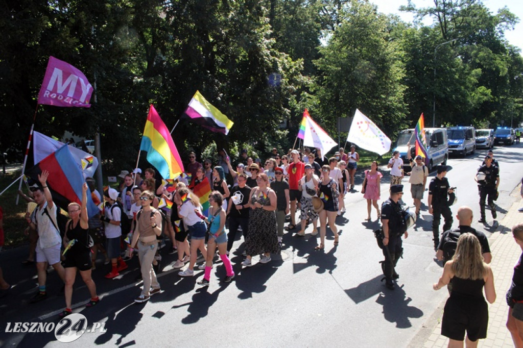
<svg viewBox="0 0 523 348">
<path fill-rule="evenodd" d="M 58 107 L 89 108 L 93 86 L 87 77 L 69 63 L 49 57 L 38 103 Z"/>
</svg>

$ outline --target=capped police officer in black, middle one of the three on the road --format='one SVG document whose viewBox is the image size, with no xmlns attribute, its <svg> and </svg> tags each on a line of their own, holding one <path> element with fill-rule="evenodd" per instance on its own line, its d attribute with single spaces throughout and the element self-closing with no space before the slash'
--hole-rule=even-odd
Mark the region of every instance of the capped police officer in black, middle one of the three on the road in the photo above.
<svg viewBox="0 0 523 348">
<path fill-rule="evenodd" d="M 433 215 L 432 234 L 434 236 L 434 250 L 438 250 L 441 215 L 445 218 L 443 230 L 446 231 L 452 227 L 452 212 L 449 206 L 454 202 L 456 196 L 454 195 L 454 190 L 450 189 L 446 175 L 447 166 L 438 166 L 436 177 L 430 180 L 428 185 L 428 212 Z M 449 195 L 451 195 L 450 200 Z"/>
</svg>

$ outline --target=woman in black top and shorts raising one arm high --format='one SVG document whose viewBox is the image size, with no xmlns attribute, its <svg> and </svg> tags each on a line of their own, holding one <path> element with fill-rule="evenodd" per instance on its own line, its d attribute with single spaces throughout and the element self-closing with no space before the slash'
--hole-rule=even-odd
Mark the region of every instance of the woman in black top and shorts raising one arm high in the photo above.
<svg viewBox="0 0 523 348">
<path fill-rule="evenodd" d="M 71 314 L 71 299 L 73 297 L 73 284 L 76 278 L 76 270 L 89 289 L 91 300 L 86 307 L 92 307 L 99 301 L 96 295 L 96 285 L 91 277 L 91 247 L 93 239 L 89 236 L 89 217 L 87 215 L 87 183 L 82 185 L 82 205 L 76 202 L 67 206 L 70 221 L 67 222 L 66 231 L 63 238 L 65 252 L 65 310 L 61 316 L 65 317 Z M 70 245 L 71 244 L 71 245 Z"/>
</svg>

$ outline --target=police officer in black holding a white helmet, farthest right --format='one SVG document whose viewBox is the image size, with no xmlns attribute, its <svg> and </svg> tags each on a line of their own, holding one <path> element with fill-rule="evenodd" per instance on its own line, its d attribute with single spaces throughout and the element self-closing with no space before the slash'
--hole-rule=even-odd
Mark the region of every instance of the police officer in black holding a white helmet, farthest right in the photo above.
<svg viewBox="0 0 523 348">
<path fill-rule="evenodd" d="M 485 164 L 481 166 L 477 173 L 483 173 L 485 175 L 485 180 L 476 181 L 480 185 L 480 211 L 481 218 L 477 221 L 479 223 L 486 223 L 485 219 L 485 199 L 487 199 L 488 206 L 491 207 L 492 218 L 497 217 L 496 205 L 494 204 L 495 196 L 497 195 L 497 188 L 499 186 L 499 169 L 492 164 L 492 157 L 485 156 Z"/>
</svg>

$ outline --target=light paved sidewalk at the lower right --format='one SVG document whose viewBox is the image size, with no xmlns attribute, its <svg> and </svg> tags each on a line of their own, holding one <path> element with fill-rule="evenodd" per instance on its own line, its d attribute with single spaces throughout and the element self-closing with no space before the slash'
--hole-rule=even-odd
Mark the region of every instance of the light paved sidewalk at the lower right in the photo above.
<svg viewBox="0 0 523 348">
<path fill-rule="evenodd" d="M 519 190 L 518 190 L 519 196 Z M 496 301 L 488 305 L 488 331 L 487 338 L 480 340 L 479 347 L 514 347 L 514 343 L 508 332 L 505 323 L 507 321 L 508 306 L 505 301 L 505 294 L 510 287 L 514 264 L 517 262 L 521 249 L 514 242 L 511 227 L 523 222 L 523 213 L 518 212 L 521 207 L 521 200 L 510 207 L 507 215 L 499 224 L 496 232 L 489 238 L 492 251 L 492 271 L 494 273 L 494 285 L 496 287 Z M 446 300 L 445 300 L 446 301 Z M 425 348 L 446 347 L 448 339 L 441 335 L 441 318 L 445 301 L 438 306 L 438 324 L 423 345 Z"/>
</svg>

